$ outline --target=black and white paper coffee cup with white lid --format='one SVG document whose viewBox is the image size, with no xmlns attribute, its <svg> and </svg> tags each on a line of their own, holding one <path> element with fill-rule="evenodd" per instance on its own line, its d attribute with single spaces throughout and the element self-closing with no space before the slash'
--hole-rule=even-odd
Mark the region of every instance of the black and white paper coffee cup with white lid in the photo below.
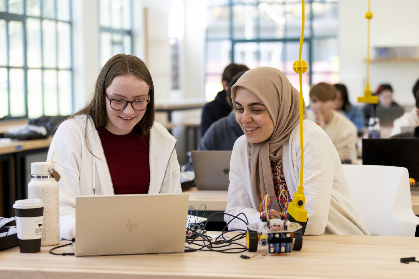
<svg viewBox="0 0 419 279">
<path fill-rule="evenodd" d="M 13 208 L 16 212 L 16 227 L 21 253 L 40 252 L 44 202 L 39 199 L 17 200 Z"/>
</svg>

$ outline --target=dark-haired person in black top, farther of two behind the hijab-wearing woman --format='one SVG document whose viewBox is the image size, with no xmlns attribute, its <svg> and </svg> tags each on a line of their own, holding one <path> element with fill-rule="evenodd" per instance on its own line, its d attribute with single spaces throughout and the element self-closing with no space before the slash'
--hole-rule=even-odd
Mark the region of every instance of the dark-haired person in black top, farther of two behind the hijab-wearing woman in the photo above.
<svg viewBox="0 0 419 279">
<path fill-rule="evenodd" d="M 231 63 L 225 67 L 224 72 L 222 73 L 222 87 L 224 90 L 217 93 L 215 99 L 207 103 L 202 109 L 202 118 L 201 118 L 201 136 L 204 136 L 204 133 L 207 131 L 209 126 L 212 123 L 217 121 L 220 118 L 227 116 L 232 110 L 231 97 L 228 97 L 228 84 L 230 84 L 231 79 L 242 71 L 247 71 L 249 68 L 246 65 L 239 65 Z"/>
</svg>

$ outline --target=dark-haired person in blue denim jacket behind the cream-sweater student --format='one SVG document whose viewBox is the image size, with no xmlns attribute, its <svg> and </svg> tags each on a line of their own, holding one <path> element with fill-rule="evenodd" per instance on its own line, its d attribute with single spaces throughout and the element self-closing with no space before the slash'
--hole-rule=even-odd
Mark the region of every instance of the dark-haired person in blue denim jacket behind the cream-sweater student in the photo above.
<svg viewBox="0 0 419 279">
<path fill-rule="evenodd" d="M 364 125 L 364 112 L 362 109 L 349 102 L 348 90 L 344 84 L 335 84 L 337 89 L 336 99 L 334 100 L 334 109 L 343 113 L 349 120 L 351 120 L 358 131 L 365 127 Z"/>
</svg>

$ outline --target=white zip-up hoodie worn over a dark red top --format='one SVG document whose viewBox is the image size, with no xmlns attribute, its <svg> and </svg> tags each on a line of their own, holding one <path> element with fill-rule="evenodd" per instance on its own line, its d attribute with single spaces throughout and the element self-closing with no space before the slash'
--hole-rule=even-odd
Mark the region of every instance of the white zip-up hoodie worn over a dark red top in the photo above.
<svg viewBox="0 0 419 279">
<path fill-rule="evenodd" d="M 176 139 L 158 123 L 153 124 L 149 137 L 148 193 L 182 192 Z M 88 146 L 97 158 L 89 152 Z M 70 240 L 75 238 L 75 197 L 114 195 L 114 187 L 99 134 L 87 115 L 76 116 L 59 125 L 49 147 L 48 160 L 52 152 L 55 152 L 55 169 L 61 175 L 58 182 L 60 237 Z"/>
</svg>

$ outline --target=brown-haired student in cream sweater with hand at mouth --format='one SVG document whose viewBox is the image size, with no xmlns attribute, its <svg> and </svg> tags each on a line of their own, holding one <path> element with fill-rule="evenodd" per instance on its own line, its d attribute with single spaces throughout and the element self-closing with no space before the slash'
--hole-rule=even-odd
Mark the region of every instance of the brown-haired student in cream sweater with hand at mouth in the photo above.
<svg viewBox="0 0 419 279">
<path fill-rule="evenodd" d="M 344 163 L 357 159 L 357 127 L 345 115 L 334 110 L 336 87 L 320 82 L 310 88 L 310 108 L 307 118 L 326 132 Z"/>
</svg>

